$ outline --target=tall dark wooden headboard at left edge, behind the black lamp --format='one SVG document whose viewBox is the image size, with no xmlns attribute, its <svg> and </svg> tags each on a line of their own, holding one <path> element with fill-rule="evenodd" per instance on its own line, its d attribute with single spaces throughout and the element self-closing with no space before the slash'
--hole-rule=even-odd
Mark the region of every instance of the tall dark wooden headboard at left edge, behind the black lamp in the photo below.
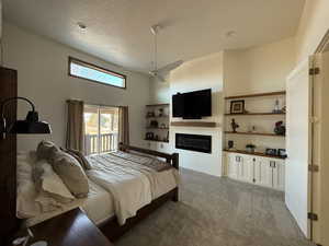
<svg viewBox="0 0 329 246">
<path fill-rule="evenodd" d="M 0 103 L 18 96 L 18 72 L 0 67 Z M 1 114 L 1 113 L 0 113 Z M 7 125 L 16 119 L 16 102 L 5 107 Z M 1 117 L 1 116 L 0 116 Z M 0 136 L 0 245 L 19 226 L 16 219 L 16 136 Z"/>
</svg>

